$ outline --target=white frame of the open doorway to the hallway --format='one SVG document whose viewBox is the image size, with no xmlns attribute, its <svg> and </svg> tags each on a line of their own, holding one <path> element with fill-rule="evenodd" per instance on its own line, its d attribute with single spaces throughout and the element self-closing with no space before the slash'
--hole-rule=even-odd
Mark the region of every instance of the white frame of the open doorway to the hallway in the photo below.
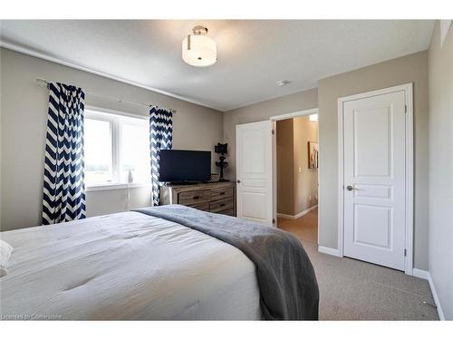
<svg viewBox="0 0 453 340">
<path fill-rule="evenodd" d="M 310 116 L 312 114 L 317 114 L 318 115 L 318 134 L 319 134 L 319 109 L 313 108 L 313 109 L 308 109 L 308 110 L 302 110 L 302 111 L 296 111 L 296 112 L 289 112 L 289 113 L 284 113 L 280 114 L 277 116 L 272 116 L 269 119 L 272 121 L 272 129 L 273 129 L 273 134 L 272 134 L 272 183 L 273 183 L 273 215 L 275 219 L 275 227 L 277 227 L 277 141 L 276 141 L 276 121 L 284 121 L 292 118 L 297 118 L 297 117 L 306 117 Z M 318 148 L 319 148 L 319 136 L 318 136 Z M 319 160 L 318 160 L 319 161 Z M 318 245 L 319 245 L 319 202 L 320 202 L 320 191 L 319 191 L 319 169 L 318 169 Z"/>
</svg>

